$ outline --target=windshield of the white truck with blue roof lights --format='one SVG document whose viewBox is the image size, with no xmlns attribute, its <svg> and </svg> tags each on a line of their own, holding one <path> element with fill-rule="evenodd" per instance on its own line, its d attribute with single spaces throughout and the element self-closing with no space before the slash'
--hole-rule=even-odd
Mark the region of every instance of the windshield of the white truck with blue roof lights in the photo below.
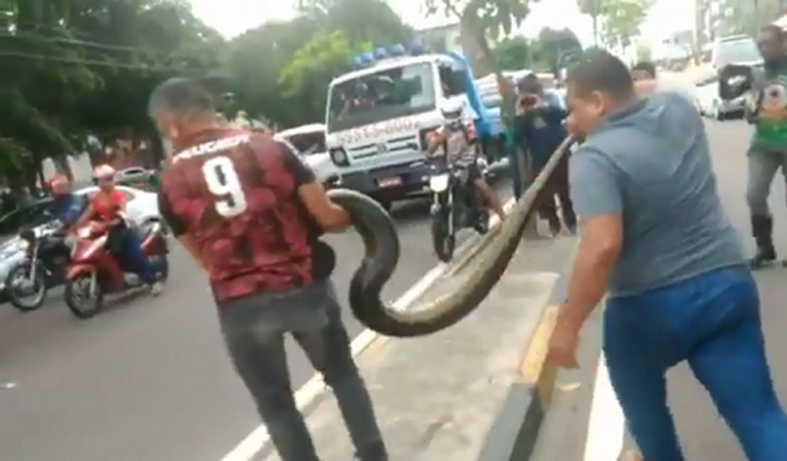
<svg viewBox="0 0 787 461">
<path fill-rule="evenodd" d="M 349 130 L 435 108 L 430 63 L 389 68 L 345 80 L 328 94 L 327 130 Z"/>
</svg>

